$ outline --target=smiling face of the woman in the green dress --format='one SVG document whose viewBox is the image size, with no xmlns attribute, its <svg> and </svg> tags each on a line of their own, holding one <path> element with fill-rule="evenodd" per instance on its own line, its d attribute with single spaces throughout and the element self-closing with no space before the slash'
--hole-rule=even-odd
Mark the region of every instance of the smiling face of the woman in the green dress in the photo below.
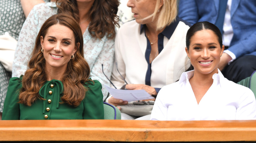
<svg viewBox="0 0 256 143">
<path fill-rule="evenodd" d="M 73 31 L 60 24 L 48 28 L 45 37 L 40 37 L 46 69 L 66 70 L 71 56 L 79 43 L 75 43 Z"/>
</svg>

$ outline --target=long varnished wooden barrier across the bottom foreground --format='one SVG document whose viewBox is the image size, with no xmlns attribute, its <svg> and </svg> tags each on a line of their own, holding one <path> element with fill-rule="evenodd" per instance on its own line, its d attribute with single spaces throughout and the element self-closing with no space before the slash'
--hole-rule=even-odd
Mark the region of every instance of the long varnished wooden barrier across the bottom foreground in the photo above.
<svg viewBox="0 0 256 143">
<path fill-rule="evenodd" d="M 256 120 L 0 120 L 0 141 L 256 141 Z"/>
</svg>

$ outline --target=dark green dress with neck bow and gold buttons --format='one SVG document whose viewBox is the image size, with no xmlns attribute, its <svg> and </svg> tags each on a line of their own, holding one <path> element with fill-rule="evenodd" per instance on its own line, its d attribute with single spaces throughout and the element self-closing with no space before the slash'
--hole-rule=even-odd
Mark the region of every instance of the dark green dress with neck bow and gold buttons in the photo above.
<svg viewBox="0 0 256 143">
<path fill-rule="evenodd" d="M 61 81 L 54 79 L 46 81 L 39 91 L 39 95 L 46 100 L 38 99 L 32 106 L 26 106 L 18 103 L 22 76 L 12 77 L 7 90 L 2 119 L 104 119 L 100 82 L 88 81 L 84 86 L 88 91 L 77 107 L 61 103 L 63 85 Z"/>
</svg>

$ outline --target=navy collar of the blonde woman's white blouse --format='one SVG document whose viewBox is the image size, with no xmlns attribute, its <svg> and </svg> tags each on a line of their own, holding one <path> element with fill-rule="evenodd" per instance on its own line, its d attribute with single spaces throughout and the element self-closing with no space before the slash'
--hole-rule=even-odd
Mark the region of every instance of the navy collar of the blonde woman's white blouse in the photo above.
<svg viewBox="0 0 256 143">
<path fill-rule="evenodd" d="M 176 19 L 176 21 L 166 26 L 161 32 L 161 34 L 167 37 L 168 39 L 170 39 L 179 22 L 180 22 L 179 19 Z M 146 24 L 140 24 L 140 34 L 142 34 L 142 32 L 145 30 L 145 27 L 146 27 Z"/>
</svg>

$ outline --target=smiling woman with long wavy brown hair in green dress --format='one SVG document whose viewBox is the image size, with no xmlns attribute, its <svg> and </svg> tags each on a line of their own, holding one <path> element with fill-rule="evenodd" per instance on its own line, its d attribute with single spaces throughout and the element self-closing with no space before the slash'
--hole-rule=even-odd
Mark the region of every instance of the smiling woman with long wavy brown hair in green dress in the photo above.
<svg viewBox="0 0 256 143">
<path fill-rule="evenodd" d="M 101 84 L 89 78 L 79 24 L 67 14 L 41 27 L 28 70 L 9 82 L 3 120 L 104 119 Z"/>
</svg>

